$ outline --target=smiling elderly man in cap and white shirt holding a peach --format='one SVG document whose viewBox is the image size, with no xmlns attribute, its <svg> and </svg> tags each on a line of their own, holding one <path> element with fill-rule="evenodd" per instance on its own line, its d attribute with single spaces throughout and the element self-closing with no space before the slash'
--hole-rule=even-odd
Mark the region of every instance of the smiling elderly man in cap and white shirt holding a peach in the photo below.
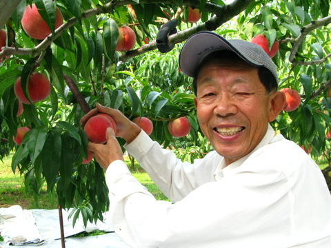
<svg viewBox="0 0 331 248">
<path fill-rule="evenodd" d="M 194 103 L 214 147 L 183 163 L 118 110 L 97 105 L 82 118 L 109 114 L 106 145 L 89 143 L 106 169 L 116 233 L 131 247 L 331 247 L 331 196 L 319 167 L 276 134 L 285 103 L 277 70 L 248 41 L 194 34 L 181 50 L 194 78 Z M 156 200 L 129 172 L 115 136 L 172 200 Z"/>
</svg>

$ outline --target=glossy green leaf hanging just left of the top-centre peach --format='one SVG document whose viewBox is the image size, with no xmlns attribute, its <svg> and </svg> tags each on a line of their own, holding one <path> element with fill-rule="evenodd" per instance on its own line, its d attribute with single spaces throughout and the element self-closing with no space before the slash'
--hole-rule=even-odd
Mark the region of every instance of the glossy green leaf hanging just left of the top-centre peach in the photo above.
<svg viewBox="0 0 331 248">
<path fill-rule="evenodd" d="M 119 39 L 119 27 L 116 21 L 109 18 L 103 23 L 103 47 L 108 59 L 114 61 L 115 48 Z"/>
</svg>

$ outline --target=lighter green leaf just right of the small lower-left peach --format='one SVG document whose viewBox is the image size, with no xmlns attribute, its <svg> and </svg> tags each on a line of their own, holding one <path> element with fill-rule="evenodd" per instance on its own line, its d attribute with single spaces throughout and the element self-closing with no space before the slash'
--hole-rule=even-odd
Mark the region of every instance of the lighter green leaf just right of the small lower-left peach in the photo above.
<svg viewBox="0 0 331 248">
<path fill-rule="evenodd" d="M 24 139 L 28 138 L 28 143 L 26 145 L 28 146 L 31 163 L 33 164 L 45 145 L 47 128 L 44 125 L 34 127 L 26 134 L 28 134 L 28 136 L 25 135 Z"/>
</svg>

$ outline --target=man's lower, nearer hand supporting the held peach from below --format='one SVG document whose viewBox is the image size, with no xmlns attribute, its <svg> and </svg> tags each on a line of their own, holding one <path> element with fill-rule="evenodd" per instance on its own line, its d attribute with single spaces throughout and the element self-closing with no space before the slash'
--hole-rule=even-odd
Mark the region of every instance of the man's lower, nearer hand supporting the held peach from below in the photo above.
<svg viewBox="0 0 331 248">
<path fill-rule="evenodd" d="M 107 143 L 106 144 L 97 144 L 97 143 L 88 143 L 88 149 L 92 152 L 94 158 L 99 162 L 100 166 L 103 169 L 107 169 L 110 163 L 121 160 L 124 161 L 123 152 L 119 142 L 115 137 L 114 130 L 111 127 L 108 127 L 106 132 Z"/>
</svg>

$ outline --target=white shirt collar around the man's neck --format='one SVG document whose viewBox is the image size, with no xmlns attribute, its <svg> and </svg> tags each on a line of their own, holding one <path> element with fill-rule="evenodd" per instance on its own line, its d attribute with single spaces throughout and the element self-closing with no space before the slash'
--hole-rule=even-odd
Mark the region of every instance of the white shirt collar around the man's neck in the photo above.
<svg viewBox="0 0 331 248">
<path fill-rule="evenodd" d="M 221 180 L 221 178 L 223 178 L 226 174 L 229 174 L 231 171 L 233 171 L 233 169 L 236 169 L 237 167 L 239 167 L 252 153 L 257 151 L 261 147 L 268 145 L 272 141 L 272 138 L 274 138 L 275 134 L 276 134 L 276 132 L 274 132 L 272 126 L 270 124 L 268 124 L 268 130 L 265 133 L 265 136 L 262 138 L 259 145 L 257 145 L 257 147 L 255 147 L 252 150 L 252 152 L 250 152 L 246 156 L 243 156 L 242 158 L 239 158 L 239 160 L 234 161 L 233 163 L 230 163 L 230 165 L 228 165 L 228 166 L 225 165 L 225 161 L 223 158 L 221 160 L 221 162 L 219 163 L 219 166 L 217 167 L 217 169 L 214 172 L 215 180 Z"/>
</svg>

